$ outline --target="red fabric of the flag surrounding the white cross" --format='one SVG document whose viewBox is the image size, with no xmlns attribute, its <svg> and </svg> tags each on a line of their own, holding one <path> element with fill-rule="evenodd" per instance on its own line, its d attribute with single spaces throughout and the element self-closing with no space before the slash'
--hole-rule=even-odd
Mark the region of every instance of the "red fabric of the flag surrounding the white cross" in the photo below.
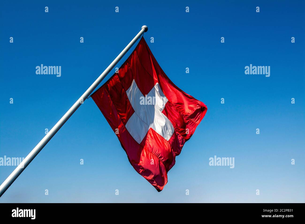
<svg viewBox="0 0 305 224">
<path fill-rule="evenodd" d="M 132 80 L 135 80 L 144 96 L 156 83 L 160 85 L 168 99 L 162 113 L 174 127 L 174 134 L 168 141 L 150 128 L 138 144 L 127 131 L 125 125 L 134 113 L 126 94 Z M 181 91 L 170 81 L 143 37 L 120 67 L 119 73 L 115 73 L 91 97 L 113 131 L 116 132 L 118 129 L 117 137 L 131 165 L 161 191 L 167 183 L 167 172 L 175 164 L 175 157 L 180 154 L 184 143 L 190 139 L 203 119 L 207 110 L 206 105 Z"/>
</svg>

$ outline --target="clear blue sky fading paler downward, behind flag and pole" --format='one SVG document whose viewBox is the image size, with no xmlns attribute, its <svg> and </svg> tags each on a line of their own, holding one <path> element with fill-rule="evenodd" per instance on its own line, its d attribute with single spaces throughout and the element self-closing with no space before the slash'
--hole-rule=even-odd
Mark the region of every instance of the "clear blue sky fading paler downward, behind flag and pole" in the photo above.
<svg viewBox="0 0 305 224">
<path fill-rule="evenodd" d="M 25 157 L 142 25 L 167 76 L 208 107 L 160 193 L 90 98 L 0 202 L 304 202 L 304 2 L 0 4 L 0 157 Z M 37 75 L 41 64 L 61 66 L 61 76 Z M 246 75 L 250 64 L 270 66 L 270 77 Z M 214 155 L 234 157 L 235 168 L 209 166 Z M 1 183 L 14 168 L 0 166 Z"/>
</svg>

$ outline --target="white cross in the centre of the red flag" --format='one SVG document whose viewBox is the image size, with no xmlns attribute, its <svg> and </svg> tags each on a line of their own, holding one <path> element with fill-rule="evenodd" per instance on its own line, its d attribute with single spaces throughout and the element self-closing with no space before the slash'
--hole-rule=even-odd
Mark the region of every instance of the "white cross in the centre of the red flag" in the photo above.
<svg viewBox="0 0 305 224">
<path fill-rule="evenodd" d="M 144 97 L 135 80 L 126 91 L 134 113 L 127 121 L 125 127 L 131 136 L 140 144 L 150 128 L 169 140 L 174 133 L 174 127 L 170 120 L 162 113 L 168 99 L 163 94 L 158 83 L 152 87 L 147 98 L 155 97 L 155 105 L 142 105 L 141 97 Z"/>
</svg>

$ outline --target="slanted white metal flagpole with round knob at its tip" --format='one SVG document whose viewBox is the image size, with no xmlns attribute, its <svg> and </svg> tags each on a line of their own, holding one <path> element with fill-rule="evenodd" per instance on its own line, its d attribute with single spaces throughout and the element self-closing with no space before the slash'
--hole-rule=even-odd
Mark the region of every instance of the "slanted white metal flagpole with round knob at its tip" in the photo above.
<svg viewBox="0 0 305 224">
<path fill-rule="evenodd" d="M 142 26 L 140 32 L 132 39 L 132 41 L 124 48 L 124 50 L 111 62 L 111 64 L 103 71 L 103 73 L 94 81 L 94 83 L 81 95 L 81 97 L 74 103 L 74 105 L 65 113 L 65 115 L 52 127 L 52 129 L 41 139 L 41 141 L 35 146 L 35 148 L 27 155 L 26 158 L 16 167 L 16 169 L 6 178 L 6 180 L 0 185 L 0 197 L 11 186 L 11 184 L 17 179 L 22 171 L 32 162 L 36 155 L 45 147 L 45 145 L 51 140 L 56 132 L 63 126 L 64 123 L 71 117 L 71 115 L 79 108 L 79 106 L 88 98 L 93 90 L 101 83 L 101 81 L 108 75 L 111 69 L 122 59 L 126 52 L 135 44 L 135 42 L 148 30 L 147 26 Z"/>
</svg>

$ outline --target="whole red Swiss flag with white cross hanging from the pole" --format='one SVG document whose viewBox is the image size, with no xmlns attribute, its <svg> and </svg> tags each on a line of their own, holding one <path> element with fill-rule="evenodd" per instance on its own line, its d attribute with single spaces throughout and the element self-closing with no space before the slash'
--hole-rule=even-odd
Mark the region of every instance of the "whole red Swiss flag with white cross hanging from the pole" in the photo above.
<svg viewBox="0 0 305 224">
<path fill-rule="evenodd" d="M 91 97 L 133 168 L 161 191 L 206 105 L 170 81 L 143 37 L 118 73 Z"/>
</svg>

